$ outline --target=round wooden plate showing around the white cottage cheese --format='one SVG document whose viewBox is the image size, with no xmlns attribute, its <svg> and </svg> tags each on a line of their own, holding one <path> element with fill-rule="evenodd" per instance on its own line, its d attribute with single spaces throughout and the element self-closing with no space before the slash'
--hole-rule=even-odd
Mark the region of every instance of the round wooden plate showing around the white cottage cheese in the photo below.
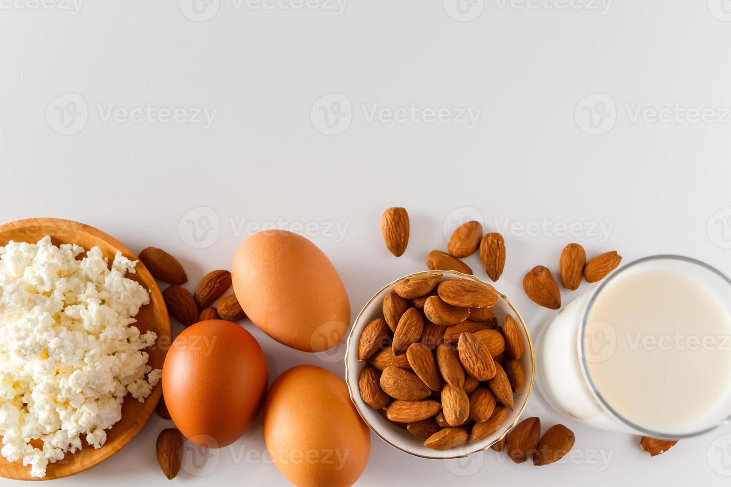
<svg viewBox="0 0 731 487">
<path fill-rule="evenodd" d="M 97 246 L 102 249 L 104 256 L 109 258 L 110 264 L 117 250 L 126 258 L 133 261 L 138 260 L 137 256 L 124 245 L 103 231 L 83 223 L 58 218 L 29 218 L 0 225 L 0 245 L 6 245 L 10 240 L 36 243 L 46 235 L 50 235 L 53 245 L 75 243 L 86 250 Z M 135 269 L 136 274 L 128 274 L 126 277 L 136 280 L 150 292 L 150 304 L 140 308 L 140 312 L 135 317 L 137 319 L 135 326 L 140 329 L 141 333 L 154 331 L 157 334 L 157 343 L 159 345 L 153 345 L 146 351 L 150 354 L 148 364 L 153 369 L 161 369 L 167 352 L 167 347 L 164 345 L 166 343 L 170 344 L 170 318 L 168 318 L 162 294 L 150 272 L 142 262 L 138 262 Z M 117 453 L 129 440 L 135 437 L 135 434 L 142 429 L 148 418 L 150 418 L 161 394 L 161 384 L 155 386 L 152 394 L 145 399 L 145 402 L 139 402 L 128 394 L 122 405 L 122 418 L 112 429 L 107 429 L 107 442 L 104 446 L 96 449 L 83 441 L 84 447 L 82 450 L 73 454 L 67 453 L 63 460 L 57 461 L 55 464 L 49 463 L 44 478 L 31 477 L 31 467 L 23 467 L 21 460 L 9 462 L 1 455 L 0 476 L 16 480 L 50 480 L 67 477 L 94 467 L 94 465 Z"/>
</svg>

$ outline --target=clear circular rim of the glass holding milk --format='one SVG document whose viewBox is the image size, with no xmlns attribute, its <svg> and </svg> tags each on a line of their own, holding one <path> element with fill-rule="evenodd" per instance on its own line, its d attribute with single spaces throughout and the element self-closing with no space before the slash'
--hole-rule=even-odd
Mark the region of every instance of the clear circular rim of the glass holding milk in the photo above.
<svg viewBox="0 0 731 487">
<path fill-rule="evenodd" d="M 721 419 L 718 423 L 714 424 L 713 426 L 710 426 L 708 428 L 704 428 L 695 432 L 686 433 L 686 434 L 668 434 L 663 432 L 655 432 L 651 429 L 643 428 L 642 426 L 639 426 L 635 423 L 632 423 L 632 421 L 629 421 L 627 418 L 624 418 L 623 415 L 618 413 L 612 406 L 610 406 L 609 402 L 605 399 L 604 396 L 599 392 L 599 388 L 596 387 L 596 384 L 594 383 L 594 380 L 591 378 L 591 374 L 588 371 L 588 364 L 586 361 L 586 352 L 584 350 L 584 331 L 586 329 L 586 323 L 589 311 L 591 310 L 592 305 L 594 304 L 594 301 L 596 300 L 596 296 L 606 287 L 606 285 L 612 280 L 614 280 L 618 275 L 621 275 L 623 272 L 625 272 L 628 269 L 632 269 L 632 267 L 637 266 L 638 264 L 643 264 L 648 261 L 659 261 L 659 260 L 674 260 L 674 261 L 684 261 L 689 264 L 694 264 L 697 266 L 701 266 L 704 269 L 707 269 L 713 274 L 721 277 L 721 280 L 723 280 L 730 288 L 731 288 L 731 279 L 724 275 L 723 272 L 719 271 L 719 269 L 716 269 L 715 267 L 711 266 L 710 264 L 706 264 L 703 261 L 699 261 L 692 257 L 687 256 L 678 256 L 673 254 L 661 254 L 656 256 L 648 256 L 643 258 L 638 258 L 635 261 L 630 262 L 629 264 L 626 264 L 625 266 L 621 266 L 618 269 L 615 269 L 613 272 L 610 273 L 604 280 L 602 280 L 599 285 L 596 285 L 594 289 L 592 289 L 589 295 L 589 299 L 586 302 L 586 304 L 583 307 L 583 310 L 581 312 L 580 316 L 580 322 L 579 322 L 579 330 L 576 335 L 577 340 L 577 350 L 579 352 L 579 363 L 581 372 L 584 376 L 584 380 L 586 380 L 586 384 L 588 385 L 589 390 L 591 391 L 591 394 L 594 396 L 594 398 L 599 401 L 599 403 L 604 407 L 604 409 L 610 413 L 614 418 L 616 418 L 621 423 L 624 423 L 624 425 L 629 426 L 629 428 L 634 429 L 636 432 L 639 432 L 640 434 L 643 434 L 646 437 L 653 437 L 653 438 L 660 438 L 665 440 L 681 440 L 683 438 L 690 438 L 690 437 L 697 437 L 701 434 L 705 434 L 708 432 L 713 431 L 713 429 L 718 428 L 719 426 L 722 426 L 729 421 L 731 421 L 731 413 L 727 415 L 725 418 Z"/>
</svg>

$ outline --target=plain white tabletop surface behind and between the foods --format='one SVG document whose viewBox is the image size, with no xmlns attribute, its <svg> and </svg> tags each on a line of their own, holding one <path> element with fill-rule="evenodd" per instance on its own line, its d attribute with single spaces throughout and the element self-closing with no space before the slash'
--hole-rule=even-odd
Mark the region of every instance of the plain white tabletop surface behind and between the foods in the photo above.
<svg viewBox="0 0 731 487">
<path fill-rule="evenodd" d="M 192 0 L 88 1 L 77 11 L 48 1 L 0 1 L 1 221 L 69 218 L 135 251 L 165 248 L 183 262 L 191 290 L 205 272 L 230 268 L 235 248 L 257 226 L 314 222 L 311 239 L 341 273 L 355 317 L 382 285 L 422 270 L 430 250 L 445 248 L 443 226 L 449 231 L 459 209 L 472 207 L 486 230 L 505 233 L 507 265 L 497 286 L 534 332 L 555 312 L 526 298 L 523 275 L 537 264 L 557 272 L 571 241 L 590 257 L 681 253 L 731 272 L 724 249 L 731 246 L 731 115 L 724 109 L 731 107 L 731 15 L 721 0 L 624 0 L 608 11 L 598 2 L 557 9 L 561 0 L 533 0 L 531 8 L 477 0 L 463 5 L 471 5 L 469 21 L 458 20 L 464 17 L 450 1 L 352 0 L 341 15 L 319 0 L 315 9 L 213 0 L 201 15 Z M 330 93 L 342 96 L 318 101 Z M 604 94 L 585 99 L 594 93 Z M 330 130 L 341 133 L 323 134 L 322 110 L 333 115 L 333 101 L 344 100 L 344 117 Z M 103 117 L 110 107 L 124 115 L 147 104 L 216 113 L 207 128 L 162 123 L 164 112 L 141 123 Z M 368 118 L 374 107 L 412 104 L 447 115 L 461 107 L 481 112 L 471 128 L 459 119 Z M 649 118 L 675 104 L 711 110 L 698 123 L 679 110 L 664 123 Z M 401 258 L 379 234 L 391 206 L 411 215 Z M 188 221 L 205 223 L 201 216 L 211 230 L 199 245 Z M 544 220 L 549 226 L 526 234 L 501 229 Z M 572 222 L 580 234 L 561 236 L 561 225 Z M 608 238 L 594 223 L 610 228 Z M 331 224 L 346 230 L 344 238 Z M 476 256 L 468 262 L 485 277 Z M 577 295 L 564 291 L 564 303 Z M 265 349 L 270 380 L 304 363 L 344 373 L 339 360 L 289 350 L 243 326 Z M 544 431 L 564 421 L 537 391 L 526 414 L 539 415 Z M 461 465 L 417 459 L 373 436 L 359 484 L 729 481 L 731 437 L 722 437 L 729 427 L 650 459 L 637 437 L 564 422 L 576 433 L 575 458 L 540 468 L 491 450 Z M 56 484 L 169 485 L 154 452 L 157 433 L 169 426 L 154 416 L 112 459 Z M 210 475 L 196 478 L 202 471 L 186 467 L 175 482 L 285 484 L 276 467 L 256 460 L 264 448 L 259 418 L 232 450 L 219 452 Z M 232 457 L 242 452 L 237 464 Z"/>
</svg>

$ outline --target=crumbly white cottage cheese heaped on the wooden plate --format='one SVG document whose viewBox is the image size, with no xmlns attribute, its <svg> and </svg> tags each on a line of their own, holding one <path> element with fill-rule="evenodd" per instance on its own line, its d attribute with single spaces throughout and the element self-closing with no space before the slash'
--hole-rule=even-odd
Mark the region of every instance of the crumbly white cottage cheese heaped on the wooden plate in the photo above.
<svg viewBox="0 0 731 487">
<path fill-rule="evenodd" d="M 98 247 L 77 260 L 83 252 L 50 237 L 0 247 L 0 453 L 34 477 L 82 448 L 83 436 L 104 445 L 124 396 L 143 402 L 160 380 L 142 351 L 156 334 L 132 326 L 150 302 L 124 277 L 137 262 L 118 252 L 110 269 Z"/>
</svg>

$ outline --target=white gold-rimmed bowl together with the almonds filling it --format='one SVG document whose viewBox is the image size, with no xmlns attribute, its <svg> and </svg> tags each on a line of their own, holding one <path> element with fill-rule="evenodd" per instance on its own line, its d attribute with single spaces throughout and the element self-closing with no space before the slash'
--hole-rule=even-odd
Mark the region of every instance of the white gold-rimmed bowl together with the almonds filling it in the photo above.
<svg viewBox="0 0 731 487">
<path fill-rule="evenodd" d="M 355 318 L 346 383 L 363 420 L 398 450 L 469 456 L 504 440 L 533 388 L 523 318 L 473 275 L 417 272 L 373 296 Z"/>
</svg>

